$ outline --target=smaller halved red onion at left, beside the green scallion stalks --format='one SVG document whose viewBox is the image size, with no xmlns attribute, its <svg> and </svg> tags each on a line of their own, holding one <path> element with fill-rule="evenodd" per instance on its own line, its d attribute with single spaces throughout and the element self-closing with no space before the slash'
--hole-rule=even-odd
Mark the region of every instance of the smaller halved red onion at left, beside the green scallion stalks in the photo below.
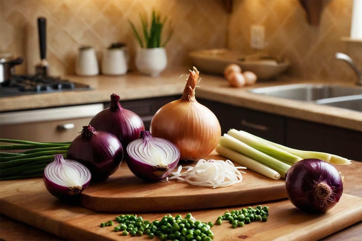
<svg viewBox="0 0 362 241">
<path fill-rule="evenodd" d="M 43 180 L 46 189 L 57 198 L 68 198 L 81 193 L 89 185 L 90 171 L 75 160 L 64 159 L 62 154 L 54 155 L 54 162 L 44 169 Z"/>
</svg>

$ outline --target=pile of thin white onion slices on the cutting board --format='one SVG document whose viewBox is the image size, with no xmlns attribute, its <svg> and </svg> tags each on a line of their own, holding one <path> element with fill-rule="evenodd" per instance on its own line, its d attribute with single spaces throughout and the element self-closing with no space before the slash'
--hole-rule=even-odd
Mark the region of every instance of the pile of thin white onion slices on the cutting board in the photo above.
<svg viewBox="0 0 362 241">
<path fill-rule="evenodd" d="M 182 169 L 187 169 L 187 171 L 181 172 Z M 230 160 L 201 159 L 194 167 L 180 165 L 177 172 L 172 172 L 172 176 L 168 179 L 183 180 L 196 186 L 226 187 L 243 181 L 239 169 L 246 169 L 246 167 L 235 167 Z"/>
</svg>

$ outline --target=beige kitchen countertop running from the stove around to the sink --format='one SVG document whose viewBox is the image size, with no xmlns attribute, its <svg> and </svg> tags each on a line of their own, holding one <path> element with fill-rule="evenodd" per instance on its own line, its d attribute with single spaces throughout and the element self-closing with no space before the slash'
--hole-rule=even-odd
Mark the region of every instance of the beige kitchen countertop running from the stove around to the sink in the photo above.
<svg viewBox="0 0 362 241">
<path fill-rule="evenodd" d="M 65 76 L 70 81 L 88 84 L 94 90 L 2 97 L 0 112 L 109 102 L 112 93 L 119 95 L 121 100 L 178 95 L 184 90 L 187 74 L 188 69 L 182 68 L 165 71 L 159 77 L 144 76 L 137 72 L 123 76 Z M 281 116 L 362 131 L 362 112 L 248 92 L 251 88 L 292 83 L 333 83 L 355 86 L 353 82 L 279 77 L 271 81 L 258 81 L 250 87 L 233 88 L 222 76 L 201 72 L 200 77 L 199 87 L 195 90 L 196 99 L 205 98 Z"/>
</svg>

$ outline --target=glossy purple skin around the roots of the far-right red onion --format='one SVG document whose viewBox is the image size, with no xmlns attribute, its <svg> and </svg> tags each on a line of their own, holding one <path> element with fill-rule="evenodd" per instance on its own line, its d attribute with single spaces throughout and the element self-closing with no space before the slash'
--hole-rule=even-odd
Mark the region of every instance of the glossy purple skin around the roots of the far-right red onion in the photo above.
<svg viewBox="0 0 362 241">
<path fill-rule="evenodd" d="M 325 203 L 316 200 L 313 184 L 325 181 L 333 190 Z M 286 191 L 291 203 L 300 210 L 313 214 L 323 214 L 334 207 L 343 193 L 340 173 L 328 162 L 320 159 L 304 159 L 292 165 L 287 171 Z"/>
</svg>

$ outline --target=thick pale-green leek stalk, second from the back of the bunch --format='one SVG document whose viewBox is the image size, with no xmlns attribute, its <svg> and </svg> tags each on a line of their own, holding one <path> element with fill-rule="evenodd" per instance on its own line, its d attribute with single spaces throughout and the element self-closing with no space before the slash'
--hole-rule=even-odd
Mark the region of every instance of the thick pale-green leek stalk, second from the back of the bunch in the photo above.
<svg viewBox="0 0 362 241">
<path fill-rule="evenodd" d="M 303 158 L 300 158 L 300 156 L 291 154 L 290 152 L 279 149 L 278 147 L 272 146 L 268 143 L 261 142 L 252 135 L 247 135 L 245 133 L 246 132 L 241 132 L 241 131 L 239 132 L 238 130 L 235 129 L 231 129 L 227 132 L 228 135 L 231 135 L 232 137 L 238 139 L 239 141 L 244 142 L 248 146 L 251 146 L 261 152 L 264 152 L 265 154 L 272 156 L 281 162 L 287 164 L 294 164 L 296 162 L 299 162 L 300 160 L 303 160 Z"/>
</svg>

